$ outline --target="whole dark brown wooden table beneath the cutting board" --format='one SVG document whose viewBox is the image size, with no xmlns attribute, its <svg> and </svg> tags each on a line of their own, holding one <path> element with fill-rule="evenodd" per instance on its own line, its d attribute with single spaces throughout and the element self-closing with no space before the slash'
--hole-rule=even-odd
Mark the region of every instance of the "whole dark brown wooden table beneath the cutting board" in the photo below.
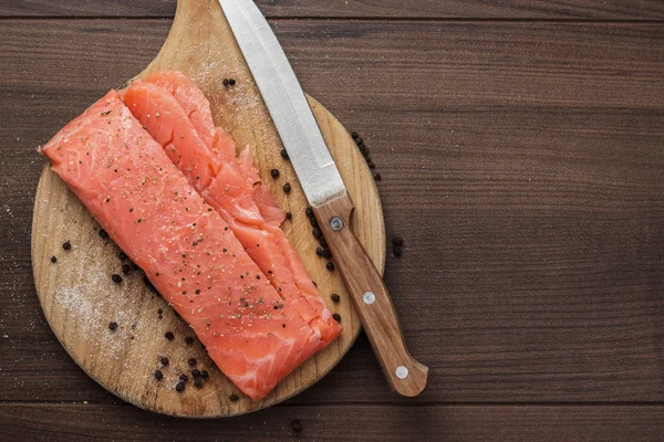
<svg viewBox="0 0 664 442">
<path fill-rule="evenodd" d="M 371 148 L 418 398 L 364 336 L 255 414 L 166 418 L 68 357 L 34 292 L 35 147 L 153 59 L 174 0 L 0 4 L 0 440 L 664 439 L 664 3 L 261 0 Z M 297 432 L 297 423 L 301 431 Z"/>
</svg>

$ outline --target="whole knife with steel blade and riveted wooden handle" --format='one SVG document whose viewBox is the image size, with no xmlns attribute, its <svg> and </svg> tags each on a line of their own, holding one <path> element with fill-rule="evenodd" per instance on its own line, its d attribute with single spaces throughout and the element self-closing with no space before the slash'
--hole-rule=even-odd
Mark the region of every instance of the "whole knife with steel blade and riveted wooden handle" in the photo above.
<svg viewBox="0 0 664 442">
<path fill-rule="evenodd" d="M 277 36 L 252 0 L 219 0 L 391 388 L 414 397 L 428 368 L 408 352 L 390 292 L 351 231 L 353 202 Z"/>
</svg>

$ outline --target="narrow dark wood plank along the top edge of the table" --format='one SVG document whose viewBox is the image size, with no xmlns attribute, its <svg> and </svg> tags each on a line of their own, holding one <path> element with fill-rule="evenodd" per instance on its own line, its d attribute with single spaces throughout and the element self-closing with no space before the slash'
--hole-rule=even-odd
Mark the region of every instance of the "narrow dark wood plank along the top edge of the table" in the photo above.
<svg viewBox="0 0 664 442">
<path fill-rule="evenodd" d="M 662 20 L 657 0 L 257 0 L 269 18 L 380 18 L 380 19 L 590 19 Z M 6 0 L 0 17 L 135 17 L 170 18 L 175 0 Z"/>
</svg>

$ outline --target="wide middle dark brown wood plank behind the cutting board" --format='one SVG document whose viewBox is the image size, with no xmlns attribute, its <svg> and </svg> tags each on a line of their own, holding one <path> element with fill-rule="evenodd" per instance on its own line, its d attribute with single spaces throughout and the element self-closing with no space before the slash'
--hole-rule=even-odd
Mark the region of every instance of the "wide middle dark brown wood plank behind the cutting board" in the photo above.
<svg viewBox="0 0 664 442">
<path fill-rule="evenodd" d="M 113 400 L 37 303 L 34 147 L 139 72 L 168 27 L 0 29 L 2 400 Z M 383 176 L 388 236 L 405 239 L 386 282 L 430 368 L 418 403 L 663 400 L 663 27 L 284 21 L 277 32 L 304 88 L 362 133 Z M 349 400 L 394 401 L 365 338 L 292 403 Z"/>
</svg>

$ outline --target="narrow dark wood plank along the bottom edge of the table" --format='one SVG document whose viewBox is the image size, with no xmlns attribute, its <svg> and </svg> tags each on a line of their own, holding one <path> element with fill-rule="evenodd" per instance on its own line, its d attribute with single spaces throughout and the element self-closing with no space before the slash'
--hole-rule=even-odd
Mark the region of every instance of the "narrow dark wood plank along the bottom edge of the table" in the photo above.
<svg viewBox="0 0 664 442">
<path fill-rule="evenodd" d="M 658 441 L 664 407 L 288 407 L 234 419 L 156 415 L 131 406 L 3 403 L 7 440 Z M 293 429 L 300 430 L 294 431 Z"/>
</svg>

